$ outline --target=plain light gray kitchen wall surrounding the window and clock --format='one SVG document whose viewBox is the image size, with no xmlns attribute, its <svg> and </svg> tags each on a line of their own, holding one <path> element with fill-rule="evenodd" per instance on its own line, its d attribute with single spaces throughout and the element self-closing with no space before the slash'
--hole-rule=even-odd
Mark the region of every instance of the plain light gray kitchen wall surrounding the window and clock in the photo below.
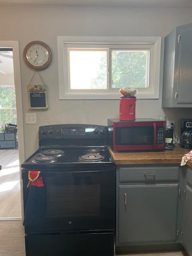
<svg viewBox="0 0 192 256">
<path fill-rule="evenodd" d="M 118 100 L 59 100 L 57 36 L 166 36 L 175 26 L 192 22 L 192 8 L 90 8 L 66 6 L 0 6 L 0 40 L 18 40 L 22 76 L 23 115 L 28 110 L 27 85 L 32 77 L 22 60 L 28 42 L 42 40 L 53 53 L 41 74 L 48 86 L 49 109 L 37 111 L 37 124 L 24 125 L 26 156 L 38 147 L 38 126 L 59 123 L 106 125 L 118 118 Z M 162 38 L 163 41 L 163 38 Z M 163 49 L 163 45 L 162 45 Z M 163 52 L 162 52 L 163 60 Z M 190 109 L 162 109 L 162 64 L 159 100 L 137 100 L 137 118 L 192 117 Z"/>
</svg>

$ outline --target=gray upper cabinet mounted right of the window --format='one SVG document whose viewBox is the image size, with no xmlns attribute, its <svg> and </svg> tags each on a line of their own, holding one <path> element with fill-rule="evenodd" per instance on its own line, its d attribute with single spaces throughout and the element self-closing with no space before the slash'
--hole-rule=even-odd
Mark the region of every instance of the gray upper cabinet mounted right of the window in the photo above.
<svg viewBox="0 0 192 256">
<path fill-rule="evenodd" d="M 162 107 L 192 107 L 192 24 L 176 27 L 164 41 Z"/>
</svg>

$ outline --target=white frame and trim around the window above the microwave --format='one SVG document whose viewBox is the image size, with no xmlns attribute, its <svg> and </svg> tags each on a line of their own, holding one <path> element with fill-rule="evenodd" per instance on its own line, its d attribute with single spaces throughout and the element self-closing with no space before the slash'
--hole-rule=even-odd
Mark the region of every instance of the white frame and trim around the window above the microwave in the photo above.
<svg viewBox="0 0 192 256">
<path fill-rule="evenodd" d="M 58 75 L 60 100 L 119 99 L 118 88 L 74 90 L 68 83 L 68 48 L 109 48 L 112 50 L 150 50 L 149 87 L 138 88 L 137 99 L 159 98 L 161 37 L 74 37 L 58 36 Z M 114 48 L 113 48 L 114 47 Z M 110 56 L 110 54 L 108 55 Z M 111 59 L 109 57 L 109 69 Z M 109 77 L 109 85 L 111 85 Z"/>
</svg>

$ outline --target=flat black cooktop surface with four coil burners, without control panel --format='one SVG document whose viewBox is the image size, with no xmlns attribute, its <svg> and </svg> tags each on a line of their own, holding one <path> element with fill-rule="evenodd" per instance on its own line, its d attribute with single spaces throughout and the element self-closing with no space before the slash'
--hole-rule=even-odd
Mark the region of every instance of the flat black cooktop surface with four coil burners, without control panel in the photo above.
<svg viewBox="0 0 192 256">
<path fill-rule="evenodd" d="M 64 147 L 39 148 L 22 165 L 28 170 L 96 167 L 114 164 L 108 148 L 104 147 Z"/>
</svg>

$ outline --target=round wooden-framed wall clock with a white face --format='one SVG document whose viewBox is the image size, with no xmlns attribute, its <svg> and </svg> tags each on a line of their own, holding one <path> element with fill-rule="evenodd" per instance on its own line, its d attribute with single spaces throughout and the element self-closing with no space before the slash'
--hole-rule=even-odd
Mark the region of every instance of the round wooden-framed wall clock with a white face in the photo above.
<svg viewBox="0 0 192 256">
<path fill-rule="evenodd" d="M 44 70 L 51 63 L 52 52 L 44 42 L 32 41 L 25 46 L 23 58 L 30 68 Z"/>
</svg>

